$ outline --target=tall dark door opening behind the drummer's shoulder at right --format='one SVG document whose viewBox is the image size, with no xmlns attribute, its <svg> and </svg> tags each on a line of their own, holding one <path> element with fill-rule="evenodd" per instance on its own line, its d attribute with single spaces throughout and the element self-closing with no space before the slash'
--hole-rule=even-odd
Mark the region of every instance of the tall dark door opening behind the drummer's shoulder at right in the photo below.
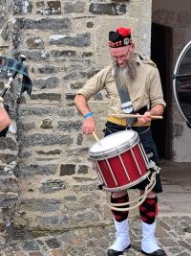
<svg viewBox="0 0 191 256">
<path fill-rule="evenodd" d="M 151 59 L 159 68 L 164 101 L 167 105 L 163 119 L 153 121 L 152 133 L 159 151 L 159 158 L 164 159 L 172 159 L 172 51 L 172 29 L 152 23 Z"/>
</svg>

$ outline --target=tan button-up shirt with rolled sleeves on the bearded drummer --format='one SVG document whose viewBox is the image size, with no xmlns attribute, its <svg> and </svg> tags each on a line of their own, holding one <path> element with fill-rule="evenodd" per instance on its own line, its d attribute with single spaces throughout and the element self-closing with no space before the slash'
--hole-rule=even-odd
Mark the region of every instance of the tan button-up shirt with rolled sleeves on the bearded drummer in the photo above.
<svg viewBox="0 0 191 256">
<path fill-rule="evenodd" d="M 145 105 L 166 105 L 163 100 L 159 70 L 152 60 L 141 60 L 137 58 L 137 78 L 128 82 L 128 92 L 134 110 Z M 108 114 L 122 113 L 121 102 L 117 91 L 117 84 L 112 75 L 112 66 L 99 71 L 89 81 L 86 81 L 83 88 L 76 94 L 82 94 L 89 100 L 98 91 L 106 89 L 109 98 Z"/>
</svg>

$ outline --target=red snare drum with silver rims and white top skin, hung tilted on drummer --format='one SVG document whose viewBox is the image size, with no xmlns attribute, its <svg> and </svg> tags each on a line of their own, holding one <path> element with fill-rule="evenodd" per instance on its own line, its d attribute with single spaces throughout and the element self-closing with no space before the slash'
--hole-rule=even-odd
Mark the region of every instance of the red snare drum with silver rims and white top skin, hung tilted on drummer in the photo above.
<svg viewBox="0 0 191 256">
<path fill-rule="evenodd" d="M 100 139 L 89 150 L 104 189 L 117 192 L 144 180 L 149 160 L 138 132 L 122 130 Z"/>
</svg>

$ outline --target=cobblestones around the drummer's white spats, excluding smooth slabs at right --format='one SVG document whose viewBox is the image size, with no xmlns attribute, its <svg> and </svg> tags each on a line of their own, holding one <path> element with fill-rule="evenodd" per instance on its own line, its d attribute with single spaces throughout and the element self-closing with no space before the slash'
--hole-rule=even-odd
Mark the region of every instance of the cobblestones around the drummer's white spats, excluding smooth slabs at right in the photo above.
<svg viewBox="0 0 191 256">
<path fill-rule="evenodd" d="M 140 223 L 130 219 L 132 248 L 124 255 L 140 256 Z M 158 219 L 157 237 L 159 245 L 168 256 L 191 255 L 191 218 L 162 217 Z M 26 237 L 22 241 L 11 241 L 1 251 L 2 256 L 105 256 L 114 239 L 114 226 L 97 226 L 63 234 Z"/>
</svg>

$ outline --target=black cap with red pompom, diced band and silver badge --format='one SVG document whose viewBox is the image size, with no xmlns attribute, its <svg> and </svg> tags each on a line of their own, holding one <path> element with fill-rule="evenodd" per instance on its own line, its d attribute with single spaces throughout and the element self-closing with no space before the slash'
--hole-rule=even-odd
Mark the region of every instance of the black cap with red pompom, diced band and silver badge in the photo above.
<svg viewBox="0 0 191 256">
<path fill-rule="evenodd" d="M 132 44 L 130 28 L 118 27 L 117 31 L 109 32 L 109 46 L 111 48 L 127 46 L 130 44 Z"/>
</svg>

